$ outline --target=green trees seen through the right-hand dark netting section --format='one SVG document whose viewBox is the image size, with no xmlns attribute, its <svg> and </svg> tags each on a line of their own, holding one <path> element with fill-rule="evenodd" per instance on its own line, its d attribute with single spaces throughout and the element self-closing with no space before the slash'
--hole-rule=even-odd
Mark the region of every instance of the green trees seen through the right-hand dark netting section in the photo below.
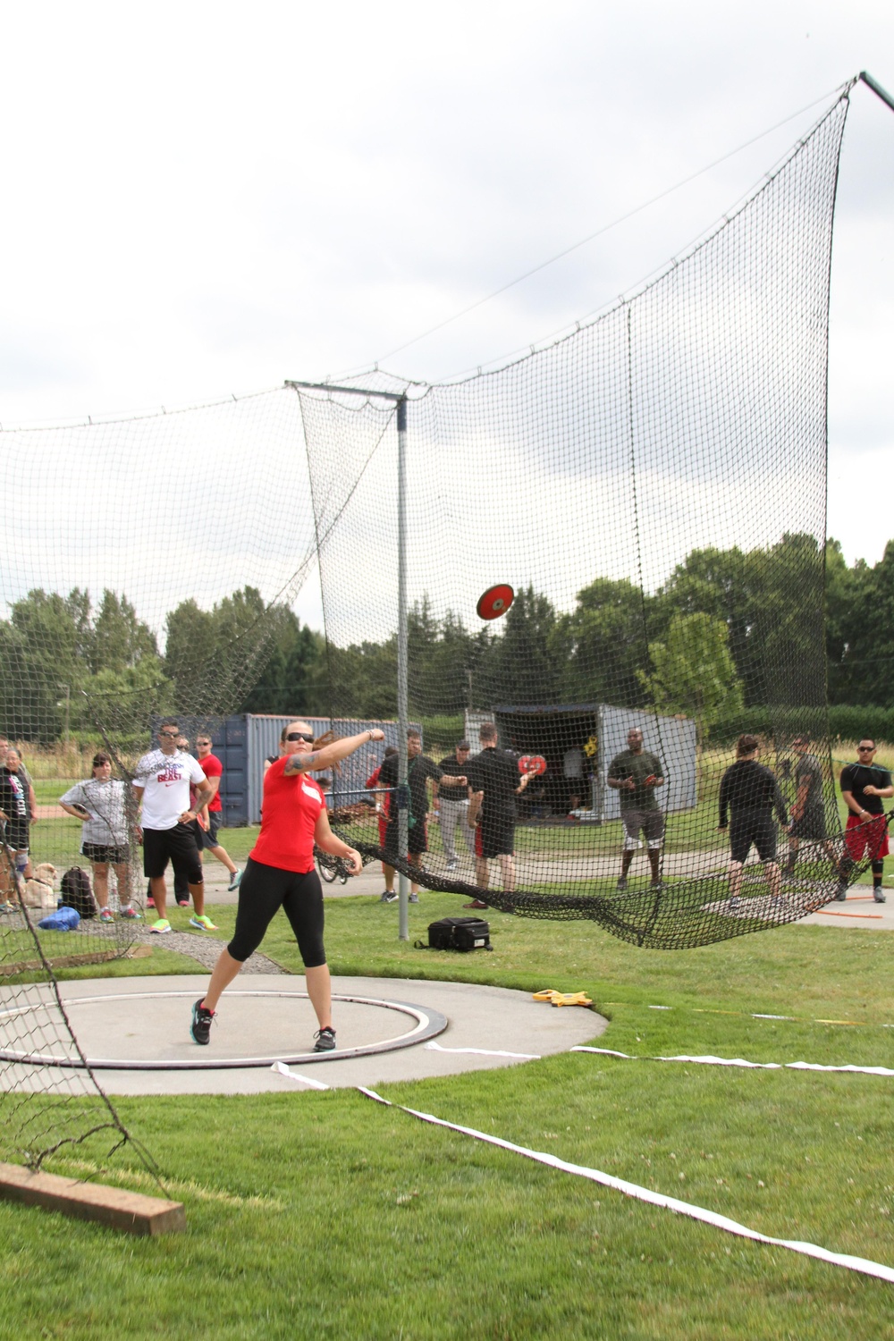
<svg viewBox="0 0 894 1341">
<path fill-rule="evenodd" d="M 807 535 L 697 550 L 653 594 L 596 578 L 563 613 L 527 587 L 496 633 L 422 601 L 409 620 L 411 711 L 596 701 L 682 712 L 710 731 L 753 704 L 819 705 L 823 570 Z M 394 713 L 394 640 L 332 648 L 331 664 L 339 712 Z"/>
</svg>

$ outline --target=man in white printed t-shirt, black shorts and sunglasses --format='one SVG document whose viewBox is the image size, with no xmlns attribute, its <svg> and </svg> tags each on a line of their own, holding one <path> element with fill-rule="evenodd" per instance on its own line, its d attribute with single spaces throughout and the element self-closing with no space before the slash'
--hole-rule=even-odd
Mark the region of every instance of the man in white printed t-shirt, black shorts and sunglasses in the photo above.
<svg viewBox="0 0 894 1341">
<path fill-rule="evenodd" d="M 134 797 L 142 802 L 142 825 L 137 837 L 143 845 L 143 874 L 149 876 L 151 896 L 155 902 L 158 921 L 149 929 L 164 935 L 170 931 L 165 917 L 168 889 L 165 870 L 168 862 L 174 872 L 182 872 L 193 896 L 194 913 L 190 927 L 200 931 L 216 931 L 210 917 L 205 916 L 205 885 L 202 864 L 196 846 L 196 835 L 190 827 L 196 810 L 189 805 L 189 786 L 196 789 L 198 810 L 206 805 L 214 789 L 210 786 L 197 759 L 177 748 L 180 728 L 176 721 L 162 721 L 158 728 L 158 750 L 145 754 L 134 772 Z"/>
</svg>

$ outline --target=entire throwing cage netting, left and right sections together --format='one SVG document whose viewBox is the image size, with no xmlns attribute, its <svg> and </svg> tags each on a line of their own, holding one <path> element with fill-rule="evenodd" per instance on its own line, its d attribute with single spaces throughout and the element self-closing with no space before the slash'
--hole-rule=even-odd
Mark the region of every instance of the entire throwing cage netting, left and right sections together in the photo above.
<svg viewBox="0 0 894 1341">
<path fill-rule="evenodd" d="M 43 866 L 50 886 L 16 873 L 23 835 L 7 826 L 0 1155 L 39 1164 L 126 1136 L 55 970 L 149 939 L 145 920 L 118 916 L 127 901 L 145 912 L 137 817 L 127 799 L 126 861 L 109 874 L 114 920 L 46 931 L 62 872 L 88 866 L 59 798 L 91 778 L 97 750 L 130 798 L 161 715 L 180 715 L 190 744 L 197 731 L 217 743 L 272 664 L 285 689 L 259 711 L 279 715 L 276 731 L 284 715 L 336 734 L 381 721 L 385 744 L 402 747 L 398 554 L 422 756 L 449 758 L 462 739 L 474 756 L 493 723 L 519 784 L 516 760 L 533 756 L 539 771 L 525 770 L 513 798 L 513 858 L 489 860 L 468 823 L 426 823 L 425 783 L 422 805 L 413 779 L 409 794 L 367 789 L 383 754 L 370 747 L 332 778 L 334 827 L 365 861 L 387 858 L 425 886 L 507 912 L 591 919 L 653 948 L 779 925 L 831 897 L 843 849 L 823 669 L 826 371 L 848 91 L 685 256 L 499 371 L 437 386 L 374 373 L 350 385 L 389 394 L 287 386 L 3 432 L 0 732 L 31 775 L 24 846 L 32 878 Z M 326 645 L 311 704 L 290 657 L 294 599 L 315 563 Z M 483 621 L 478 597 L 496 583 L 515 601 Z M 733 900 L 718 789 L 736 724 L 755 712 L 789 805 L 789 747 L 810 736 L 824 834 L 803 838 L 779 878 L 777 865 L 748 862 Z M 634 838 L 609 780 L 629 767 L 631 728 L 663 779 Z M 259 789 L 261 766 L 249 751 Z M 377 801 L 390 819 L 405 811 L 421 865 L 395 857 Z M 449 801 L 444 789 L 442 815 Z M 476 833 L 488 826 L 485 794 Z"/>
</svg>

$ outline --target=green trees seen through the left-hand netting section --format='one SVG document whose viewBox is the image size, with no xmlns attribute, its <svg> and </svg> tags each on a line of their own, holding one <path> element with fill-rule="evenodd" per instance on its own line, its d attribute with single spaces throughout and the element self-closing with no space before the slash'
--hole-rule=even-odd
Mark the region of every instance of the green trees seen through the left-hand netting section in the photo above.
<svg viewBox="0 0 894 1341">
<path fill-rule="evenodd" d="M 240 636 L 248 634 L 245 648 Z M 221 675 L 231 660 L 251 665 L 251 688 L 237 673 Z M 235 652 L 232 649 L 236 649 Z M 59 739 L 66 731 L 94 732 L 102 721 L 117 732 L 150 712 L 189 711 L 206 681 L 220 685 L 221 713 L 291 712 L 303 704 L 324 712 L 324 640 L 284 606 L 268 609 L 260 593 L 244 587 L 212 610 L 181 602 L 166 618 L 165 652 L 126 595 L 35 590 L 0 621 L 0 725 L 15 738 Z"/>
</svg>

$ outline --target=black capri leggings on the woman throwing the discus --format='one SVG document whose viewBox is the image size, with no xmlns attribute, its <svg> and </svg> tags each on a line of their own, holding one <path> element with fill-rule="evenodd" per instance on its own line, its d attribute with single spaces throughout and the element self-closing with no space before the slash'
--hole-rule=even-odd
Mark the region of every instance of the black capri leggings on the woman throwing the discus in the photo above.
<svg viewBox="0 0 894 1341">
<path fill-rule="evenodd" d="M 304 968 L 320 968 L 326 963 L 320 877 L 315 870 L 302 873 L 265 866 L 252 857 L 245 862 L 239 886 L 236 931 L 227 949 L 244 964 L 280 908 L 295 932 Z"/>
</svg>

